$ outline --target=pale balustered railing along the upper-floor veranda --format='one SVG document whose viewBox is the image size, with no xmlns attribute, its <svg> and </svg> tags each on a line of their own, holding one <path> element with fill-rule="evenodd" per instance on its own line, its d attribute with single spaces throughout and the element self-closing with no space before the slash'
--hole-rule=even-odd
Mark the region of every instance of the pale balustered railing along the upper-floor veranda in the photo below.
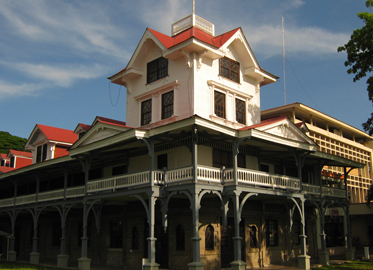
<svg viewBox="0 0 373 270">
<path fill-rule="evenodd" d="M 154 170 L 152 175 L 154 185 L 172 185 L 182 182 L 193 181 L 193 167 L 183 167 L 173 170 Z M 197 166 L 197 181 L 208 182 L 212 184 L 233 183 L 233 169 L 220 170 L 214 167 Z M 237 180 L 241 185 L 250 185 L 254 187 L 281 189 L 281 190 L 300 190 L 300 180 L 295 177 L 285 175 L 270 174 L 261 171 L 239 168 L 237 170 Z M 150 172 L 143 171 L 124 175 L 113 176 L 105 179 L 89 181 L 87 183 L 87 193 L 97 192 L 115 192 L 118 189 L 124 189 L 134 186 L 149 185 Z M 346 191 L 340 188 L 325 187 L 302 184 L 302 191 L 310 195 L 324 195 L 338 198 L 345 198 Z M 17 196 L 0 200 L 0 208 L 11 207 L 14 205 L 24 205 L 36 202 L 46 202 L 52 200 L 61 200 L 65 198 L 78 198 L 85 195 L 85 186 L 70 187 L 66 190 L 58 189 L 38 194 Z"/>
</svg>

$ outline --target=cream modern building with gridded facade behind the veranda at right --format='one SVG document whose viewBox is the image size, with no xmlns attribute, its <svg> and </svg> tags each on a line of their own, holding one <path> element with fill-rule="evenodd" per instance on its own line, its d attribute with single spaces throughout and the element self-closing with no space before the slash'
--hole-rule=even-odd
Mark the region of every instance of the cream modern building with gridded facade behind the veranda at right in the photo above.
<svg viewBox="0 0 373 270">
<path fill-rule="evenodd" d="M 323 114 L 304 104 L 293 103 L 286 106 L 268 109 L 262 112 L 262 119 L 286 115 L 293 123 L 306 123 L 307 135 L 317 143 L 318 151 L 337 155 L 349 160 L 365 164 L 364 168 L 355 168 L 347 178 L 347 188 L 350 202 L 350 220 L 353 245 L 361 249 L 364 245 L 373 245 L 373 209 L 366 205 L 367 191 L 372 182 L 372 149 L 373 137 L 365 132 L 349 126 L 333 117 Z M 340 167 L 325 164 L 322 170 L 324 185 L 335 185 L 340 182 L 343 171 Z M 327 246 L 337 253 L 339 246 L 343 250 L 344 237 L 338 237 L 345 224 L 345 215 L 337 205 L 334 211 L 326 213 L 326 227 L 329 234 Z M 345 228 L 344 228 L 345 230 Z"/>
</svg>

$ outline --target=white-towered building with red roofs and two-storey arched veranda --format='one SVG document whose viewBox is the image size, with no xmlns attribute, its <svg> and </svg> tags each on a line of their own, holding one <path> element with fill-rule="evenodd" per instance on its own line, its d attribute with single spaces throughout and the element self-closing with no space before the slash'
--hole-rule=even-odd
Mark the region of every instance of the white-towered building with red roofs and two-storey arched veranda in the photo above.
<svg viewBox="0 0 373 270">
<path fill-rule="evenodd" d="M 127 88 L 126 122 L 96 117 L 72 140 L 36 125 L 33 164 L 0 175 L 10 260 L 82 270 L 328 263 L 317 231 L 332 202 L 348 216 L 344 179 L 364 164 L 319 151 L 303 122 L 261 120 L 261 87 L 277 77 L 240 28 L 215 36 L 195 14 L 171 36 L 148 28 L 109 79 Z M 324 164 L 343 172 L 333 185 L 323 185 Z"/>
</svg>

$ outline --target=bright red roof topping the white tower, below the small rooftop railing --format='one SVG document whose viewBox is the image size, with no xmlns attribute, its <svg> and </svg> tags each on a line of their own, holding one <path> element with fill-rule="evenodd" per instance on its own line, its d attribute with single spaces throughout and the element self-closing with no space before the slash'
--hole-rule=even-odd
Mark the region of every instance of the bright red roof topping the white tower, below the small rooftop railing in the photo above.
<svg viewBox="0 0 373 270">
<path fill-rule="evenodd" d="M 207 44 L 210 44 L 212 46 L 215 46 L 217 48 L 220 48 L 223 46 L 228 39 L 230 39 L 240 28 L 236 28 L 232 31 L 229 31 L 227 33 L 224 33 L 220 36 L 214 37 L 210 34 L 207 34 L 206 32 L 202 31 L 201 29 L 197 27 L 191 27 L 173 37 L 167 36 L 165 34 L 162 34 L 158 31 L 155 31 L 153 29 L 148 28 L 150 32 L 153 33 L 153 35 L 167 48 L 171 48 L 177 44 L 180 44 L 192 37 L 201 40 Z"/>
</svg>

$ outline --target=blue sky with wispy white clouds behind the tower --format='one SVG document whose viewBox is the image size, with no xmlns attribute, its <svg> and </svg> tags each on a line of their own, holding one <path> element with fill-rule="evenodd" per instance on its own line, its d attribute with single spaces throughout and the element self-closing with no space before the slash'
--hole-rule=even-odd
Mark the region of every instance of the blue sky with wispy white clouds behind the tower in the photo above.
<svg viewBox="0 0 373 270">
<path fill-rule="evenodd" d="M 262 68 L 281 77 L 261 89 L 262 109 L 301 102 L 361 129 L 372 112 L 365 79 L 353 83 L 337 47 L 363 26 L 365 0 L 196 0 L 216 35 L 242 27 Z M 75 129 L 96 116 L 126 119 L 123 69 L 146 27 L 170 35 L 192 0 L 1 0 L 0 130 L 28 138 L 35 124 Z M 118 95 L 119 94 L 119 95 Z"/>
</svg>

